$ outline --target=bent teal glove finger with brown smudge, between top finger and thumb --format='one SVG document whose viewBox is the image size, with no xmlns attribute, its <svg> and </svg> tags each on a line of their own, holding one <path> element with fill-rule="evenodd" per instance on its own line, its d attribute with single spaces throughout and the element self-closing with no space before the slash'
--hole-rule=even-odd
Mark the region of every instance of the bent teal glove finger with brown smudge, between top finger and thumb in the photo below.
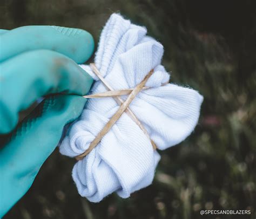
<svg viewBox="0 0 256 219">
<path fill-rule="evenodd" d="M 0 69 L 0 133 L 10 132 L 17 124 L 18 112 L 42 95 L 84 95 L 93 81 L 75 61 L 48 50 L 20 54 L 4 61 Z"/>
</svg>

